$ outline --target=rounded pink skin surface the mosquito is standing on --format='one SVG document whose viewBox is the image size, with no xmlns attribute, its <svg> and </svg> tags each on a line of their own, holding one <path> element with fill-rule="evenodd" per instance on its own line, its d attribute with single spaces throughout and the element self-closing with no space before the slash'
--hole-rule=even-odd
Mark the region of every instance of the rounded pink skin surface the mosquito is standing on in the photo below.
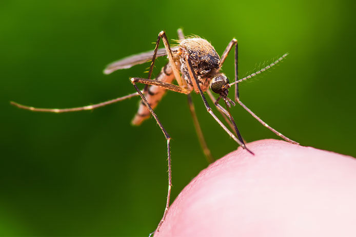
<svg viewBox="0 0 356 237">
<path fill-rule="evenodd" d="M 356 236 L 356 159 L 279 140 L 201 171 L 154 236 Z"/>
</svg>

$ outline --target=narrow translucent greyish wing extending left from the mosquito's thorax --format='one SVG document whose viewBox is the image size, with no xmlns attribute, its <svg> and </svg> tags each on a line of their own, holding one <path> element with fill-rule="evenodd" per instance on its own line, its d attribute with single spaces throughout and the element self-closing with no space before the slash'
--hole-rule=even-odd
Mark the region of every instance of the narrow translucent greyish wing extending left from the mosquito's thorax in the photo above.
<svg viewBox="0 0 356 237">
<path fill-rule="evenodd" d="M 172 50 L 172 53 L 174 54 L 177 50 L 177 47 L 173 47 L 173 48 L 171 48 L 171 50 Z M 127 69 L 127 68 L 131 68 L 132 66 L 135 66 L 137 64 L 145 63 L 152 59 L 153 52 L 154 51 L 151 50 L 148 52 L 131 55 L 129 57 L 114 61 L 114 62 L 110 63 L 108 66 L 106 66 L 106 68 L 104 70 L 104 74 L 110 74 L 110 73 L 112 73 L 116 70 L 119 70 L 119 69 Z M 166 49 L 162 48 L 162 49 L 157 50 L 156 57 L 162 57 L 165 55 L 167 55 Z"/>
</svg>

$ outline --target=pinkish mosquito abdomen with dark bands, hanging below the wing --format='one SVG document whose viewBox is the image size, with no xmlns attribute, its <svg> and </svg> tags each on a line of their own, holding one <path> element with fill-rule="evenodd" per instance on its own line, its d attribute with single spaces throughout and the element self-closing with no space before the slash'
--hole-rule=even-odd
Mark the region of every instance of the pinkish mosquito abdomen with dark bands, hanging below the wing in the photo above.
<svg viewBox="0 0 356 237">
<path fill-rule="evenodd" d="M 172 83 L 174 79 L 174 74 L 169 63 L 162 68 L 160 74 L 157 75 L 156 80 Z M 161 101 L 163 95 L 166 93 L 166 89 L 157 87 L 156 85 L 150 85 L 148 88 L 148 93 L 145 95 L 148 103 L 154 109 L 157 104 Z M 132 119 L 131 123 L 133 125 L 140 125 L 143 121 L 150 117 L 151 113 L 141 100 L 139 105 L 139 110 L 137 111 L 135 117 Z"/>
</svg>

